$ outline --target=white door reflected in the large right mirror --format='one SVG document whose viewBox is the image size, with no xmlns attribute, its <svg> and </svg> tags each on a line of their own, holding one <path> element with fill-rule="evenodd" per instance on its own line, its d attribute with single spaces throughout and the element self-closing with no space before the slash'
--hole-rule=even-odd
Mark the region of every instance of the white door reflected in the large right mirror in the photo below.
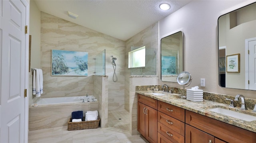
<svg viewBox="0 0 256 143">
<path fill-rule="evenodd" d="M 249 54 L 249 90 L 256 90 L 256 40 L 248 42 Z"/>
</svg>

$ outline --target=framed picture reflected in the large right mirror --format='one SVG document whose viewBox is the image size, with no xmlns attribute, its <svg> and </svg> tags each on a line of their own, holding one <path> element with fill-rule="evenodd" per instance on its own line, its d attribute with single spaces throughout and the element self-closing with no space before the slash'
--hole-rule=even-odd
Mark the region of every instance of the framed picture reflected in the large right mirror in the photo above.
<svg viewBox="0 0 256 143">
<path fill-rule="evenodd" d="M 226 70 L 240 73 L 240 54 L 226 56 Z"/>
</svg>

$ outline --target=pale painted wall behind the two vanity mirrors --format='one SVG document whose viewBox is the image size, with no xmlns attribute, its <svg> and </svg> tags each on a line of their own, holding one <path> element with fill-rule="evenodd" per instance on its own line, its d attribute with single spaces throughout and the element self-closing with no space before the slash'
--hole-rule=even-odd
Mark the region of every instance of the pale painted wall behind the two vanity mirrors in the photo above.
<svg viewBox="0 0 256 143">
<path fill-rule="evenodd" d="M 177 31 L 184 32 L 184 71 L 190 72 L 193 78 L 188 88 L 200 87 L 200 78 L 205 78 L 206 87 L 200 89 L 206 92 L 230 96 L 243 94 L 246 98 L 256 99 L 256 91 L 218 85 L 218 17 L 252 2 L 255 0 L 194 0 L 159 21 L 159 41 Z M 177 83 L 162 82 L 160 78 L 159 84 L 181 88 Z"/>
</svg>

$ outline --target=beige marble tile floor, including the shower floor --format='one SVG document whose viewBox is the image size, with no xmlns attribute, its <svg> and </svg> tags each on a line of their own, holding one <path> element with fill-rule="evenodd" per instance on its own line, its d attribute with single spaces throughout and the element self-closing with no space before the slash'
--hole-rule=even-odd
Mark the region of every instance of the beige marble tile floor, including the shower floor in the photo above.
<svg viewBox="0 0 256 143">
<path fill-rule="evenodd" d="M 130 135 L 129 113 L 108 112 L 108 127 L 68 131 L 67 126 L 28 132 L 28 143 L 148 143 L 141 135 Z"/>
</svg>

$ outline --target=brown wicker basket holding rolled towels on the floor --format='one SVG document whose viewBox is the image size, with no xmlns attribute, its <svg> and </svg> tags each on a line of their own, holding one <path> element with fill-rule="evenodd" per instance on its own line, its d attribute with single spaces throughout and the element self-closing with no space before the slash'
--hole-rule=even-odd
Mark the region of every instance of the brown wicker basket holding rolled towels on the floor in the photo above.
<svg viewBox="0 0 256 143">
<path fill-rule="evenodd" d="M 100 123 L 100 117 L 98 116 L 98 120 L 94 121 L 85 121 L 85 117 L 83 117 L 83 121 L 80 122 L 72 122 L 72 118 L 68 121 L 68 131 L 70 130 L 78 130 L 78 129 L 94 129 L 98 128 Z"/>
</svg>

